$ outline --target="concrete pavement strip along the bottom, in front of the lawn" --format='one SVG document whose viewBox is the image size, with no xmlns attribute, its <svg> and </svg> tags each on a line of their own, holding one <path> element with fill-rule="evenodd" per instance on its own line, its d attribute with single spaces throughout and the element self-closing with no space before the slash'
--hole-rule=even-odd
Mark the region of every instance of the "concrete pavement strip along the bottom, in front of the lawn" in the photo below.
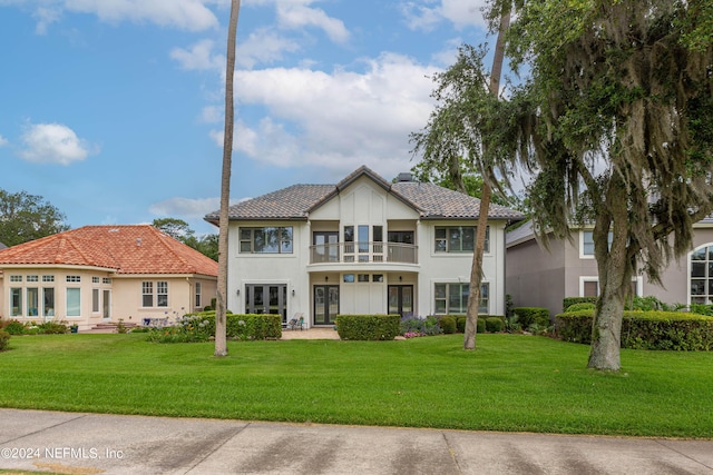
<svg viewBox="0 0 713 475">
<path fill-rule="evenodd" d="M 0 409 L 0 468 L 60 474 L 713 474 L 713 441 Z"/>
</svg>

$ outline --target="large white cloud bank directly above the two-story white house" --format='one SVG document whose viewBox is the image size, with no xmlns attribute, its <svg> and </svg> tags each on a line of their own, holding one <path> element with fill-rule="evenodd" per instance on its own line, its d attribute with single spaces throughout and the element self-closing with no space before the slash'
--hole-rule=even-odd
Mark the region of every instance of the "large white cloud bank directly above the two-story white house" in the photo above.
<svg viewBox="0 0 713 475">
<path fill-rule="evenodd" d="M 398 55 L 365 61 L 363 72 L 273 68 L 237 71 L 240 101 L 268 110 L 238 118 L 234 149 L 279 167 L 320 166 L 335 176 L 361 165 L 395 175 L 412 164 L 409 135 L 433 108 L 436 67 Z M 223 131 L 211 137 L 223 145 Z"/>
</svg>

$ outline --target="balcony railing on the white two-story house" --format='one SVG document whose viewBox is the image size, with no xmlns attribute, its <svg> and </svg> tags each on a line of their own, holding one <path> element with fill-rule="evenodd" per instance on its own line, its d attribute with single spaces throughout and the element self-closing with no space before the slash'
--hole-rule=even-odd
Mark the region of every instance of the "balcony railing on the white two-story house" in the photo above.
<svg viewBox="0 0 713 475">
<path fill-rule="evenodd" d="M 418 264 L 418 246 L 400 243 L 339 243 L 310 246 L 310 264 Z"/>
</svg>

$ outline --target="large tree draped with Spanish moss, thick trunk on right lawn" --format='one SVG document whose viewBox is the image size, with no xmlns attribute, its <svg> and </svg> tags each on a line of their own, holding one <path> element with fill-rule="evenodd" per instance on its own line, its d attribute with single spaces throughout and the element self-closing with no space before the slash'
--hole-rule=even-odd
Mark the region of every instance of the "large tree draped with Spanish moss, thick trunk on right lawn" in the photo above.
<svg viewBox="0 0 713 475">
<path fill-rule="evenodd" d="M 660 283 L 713 210 L 712 18 L 710 0 L 519 1 L 507 51 L 529 75 L 479 102 L 502 165 L 517 154 L 535 172 L 540 238 L 594 224 L 592 368 L 621 368 L 632 277 Z"/>
</svg>

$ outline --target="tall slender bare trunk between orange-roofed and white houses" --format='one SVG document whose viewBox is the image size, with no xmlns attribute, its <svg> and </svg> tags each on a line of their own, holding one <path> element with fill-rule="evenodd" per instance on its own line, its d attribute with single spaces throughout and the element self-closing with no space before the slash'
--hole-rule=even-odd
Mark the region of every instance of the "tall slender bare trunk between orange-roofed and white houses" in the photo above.
<svg viewBox="0 0 713 475">
<path fill-rule="evenodd" d="M 225 129 L 223 137 L 223 171 L 221 177 L 221 220 L 218 226 L 218 284 L 215 309 L 215 356 L 227 356 L 226 306 L 227 306 L 227 232 L 231 201 L 231 168 L 233 156 L 233 82 L 235 76 L 235 36 L 240 0 L 231 2 L 231 20 L 227 27 L 227 61 L 225 68 Z"/>
</svg>

